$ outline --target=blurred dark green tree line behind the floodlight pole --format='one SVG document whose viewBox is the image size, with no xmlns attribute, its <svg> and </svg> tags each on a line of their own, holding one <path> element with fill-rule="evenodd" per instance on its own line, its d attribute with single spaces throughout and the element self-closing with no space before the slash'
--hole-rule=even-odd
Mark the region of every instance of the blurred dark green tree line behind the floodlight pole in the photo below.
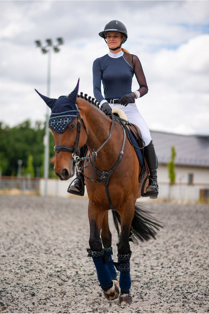
<svg viewBox="0 0 209 314">
<path fill-rule="evenodd" d="M 41 169 L 41 176 L 44 175 L 44 143 L 46 123 L 36 121 L 32 126 L 29 120 L 26 120 L 17 126 L 9 127 L 0 122 L 0 167 L 3 176 L 16 176 L 18 172 L 17 160 L 23 160 L 22 174 L 27 174 L 28 156 L 33 156 L 33 168 Z M 50 149 L 49 158 L 54 155 L 54 138 L 50 131 Z M 49 164 L 49 176 L 53 174 L 53 164 Z"/>
</svg>

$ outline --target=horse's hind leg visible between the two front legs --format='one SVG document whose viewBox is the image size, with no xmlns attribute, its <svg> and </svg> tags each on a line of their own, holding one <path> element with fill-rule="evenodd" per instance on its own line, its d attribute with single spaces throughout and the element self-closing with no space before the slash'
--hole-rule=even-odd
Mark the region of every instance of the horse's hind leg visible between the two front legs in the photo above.
<svg viewBox="0 0 209 314">
<path fill-rule="evenodd" d="M 108 211 L 105 212 L 103 222 L 102 222 L 102 231 L 101 231 L 102 243 L 104 246 L 105 257 L 107 259 L 107 267 L 110 271 L 111 279 L 113 282 L 119 286 L 117 281 L 117 273 L 115 270 L 115 266 L 113 264 L 113 251 L 112 251 L 112 234 L 110 232 L 109 223 L 108 223 Z"/>
</svg>

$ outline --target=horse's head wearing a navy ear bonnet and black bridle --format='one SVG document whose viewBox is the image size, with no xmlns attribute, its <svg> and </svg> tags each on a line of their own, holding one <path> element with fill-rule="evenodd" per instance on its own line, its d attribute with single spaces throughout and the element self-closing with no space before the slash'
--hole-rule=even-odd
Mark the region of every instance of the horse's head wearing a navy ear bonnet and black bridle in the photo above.
<svg viewBox="0 0 209 314">
<path fill-rule="evenodd" d="M 76 104 L 78 85 L 68 96 L 51 99 L 36 92 L 51 108 L 49 127 L 55 141 L 56 161 L 54 170 L 61 180 L 68 180 L 75 174 L 72 154 L 77 154 L 87 140 L 87 133 L 79 119 L 79 109 Z"/>
</svg>

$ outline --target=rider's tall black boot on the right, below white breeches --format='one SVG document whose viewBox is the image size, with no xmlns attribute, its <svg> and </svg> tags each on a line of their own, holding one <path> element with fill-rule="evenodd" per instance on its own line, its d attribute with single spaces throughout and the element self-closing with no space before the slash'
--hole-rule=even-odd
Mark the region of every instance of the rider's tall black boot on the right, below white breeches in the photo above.
<svg viewBox="0 0 209 314">
<path fill-rule="evenodd" d="M 150 196 L 150 198 L 158 198 L 158 181 L 157 181 L 158 165 L 153 140 L 151 140 L 149 145 L 144 147 L 144 157 L 147 161 L 147 165 L 150 172 L 149 185 L 146 189 L 146 192 L 156 192 L 152 193 L 152 196 Z"/>
</svg>

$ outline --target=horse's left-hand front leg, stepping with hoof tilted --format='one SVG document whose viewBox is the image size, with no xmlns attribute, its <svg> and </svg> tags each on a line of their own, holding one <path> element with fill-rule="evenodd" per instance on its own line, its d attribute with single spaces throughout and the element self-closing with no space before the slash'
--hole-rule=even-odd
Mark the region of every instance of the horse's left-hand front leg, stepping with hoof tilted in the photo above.
<svg viewBox="0 0 209 314">
<path fill-rule="evenodd" d="M 107 267 L 108 258 L 105 259 L 105 250 L 102 248 L 100 231 L 105 215 L 105 210 L 98 208 L 96 204 L 89 200 L 88 219 L 90 225 L 88 256 L 92 257 L 97 271 L 99 284 L 107 299 L 116 299 L 119 296 L 119 289 L 112 281 L 110 271 Z"/>
</svg>

